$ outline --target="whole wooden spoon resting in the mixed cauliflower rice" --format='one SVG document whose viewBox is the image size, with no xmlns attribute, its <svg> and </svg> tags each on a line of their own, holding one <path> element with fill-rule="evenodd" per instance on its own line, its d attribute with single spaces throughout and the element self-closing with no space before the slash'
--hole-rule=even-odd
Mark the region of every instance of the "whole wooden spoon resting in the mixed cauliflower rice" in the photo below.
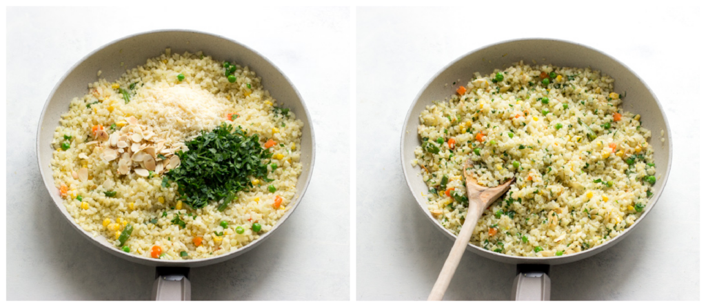
<svg viewBox="0 0 706 307">
<path fill-rule="evenodd" d="M 495 200 L 500 198 L 503 193 L 508 191 L 510 184 L 515 182 L 515 178 L 508 180 L 507 182 L 496 186 L 494 188 L 488 188 L 486 186 L 480 186 L 478 181 L 473 178 L 473 174 L 470 169 L 473 165 L 471 159 L 468 159 L 463 165 L 463 176 L 466 177 L 466 191 L 468 192 L 468 210 L 466 212 L 466 219 L 463 222 L 463 227 L 461 231 L 456 236 L 456 242 L 453 243 L 453 248 L 451 248 L 451 253 L 448 254 L 446 262 L 443 264 L 441 273 L 436 279 L 433 289 L 431 289 L 431 294 L 429 294 L 428 301 L 441 301 L 443 299 L 443 294 L 448 288 L 448 284 L 453 278 L 453 273 L 456 272 L 456 267 L 461 261 L 461 256 L 463 252 L 466 251 L 466 246 L 468 242 L 471 241 L 471 235 L 473 234 L 473 229 L 476 228 L 476 223 L 478 219 L 483 215 L 483 211 Z"/>
</svg>

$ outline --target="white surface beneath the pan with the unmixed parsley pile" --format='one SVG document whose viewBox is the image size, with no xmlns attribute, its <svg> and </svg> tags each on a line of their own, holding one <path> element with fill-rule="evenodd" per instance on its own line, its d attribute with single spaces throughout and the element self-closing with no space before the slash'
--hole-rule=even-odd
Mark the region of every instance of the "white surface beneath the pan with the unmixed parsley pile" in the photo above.
<svg viewBox="0 0 706 307">
<path fill-rule="evenodd" d="M 154 268 L 101 251 L 54 208 L 35 132 L 71 65 L 102 44 L 160 28 L 224 35 L 267 56 L 304 97 L 317 140 L 297 212 L 249 253 L 191 269 L 193 299 L 349 299 L 349 121 L 340 116 L 349 113 L 349 9 L 170 7 L 8 8 L 7 299 L 150 299 Z"/>
</svg>

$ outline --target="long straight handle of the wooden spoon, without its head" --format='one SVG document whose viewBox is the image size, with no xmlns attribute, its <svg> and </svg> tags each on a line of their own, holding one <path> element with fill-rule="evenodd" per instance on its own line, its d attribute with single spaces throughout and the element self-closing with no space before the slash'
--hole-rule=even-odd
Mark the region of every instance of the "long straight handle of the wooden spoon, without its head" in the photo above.
<svg viewBox="0 0 706 307">
<path fill-rule="evenodd" d="M 434 287 L 431 289 L 431 294 L 427 301 L 441 301 L 443 295 L 453 278 L 453 273 L 456 272 L 456 267 L 461 261 L 463 253 L 466 251 L 466 246 L 468 242 L 471 241 L 471 235 L 473 234 L 473 229 L 476 228 L 476 223 L 480 214 L 477 213 L 478 207 L 483 207 L 481 200 L 479 198 L 469 199 L 468 211 L 466 212 L 466 221 L 463 222 L 463 227 L 461 227 L 461 232 L 456 236 L 456 242 L 453 243 L 453 248 L 451 248 L 451 253 L 448 254 L 446 262 L 443 264 L 441 273 L 436 279 Z M 482 213 L 482 210 L 481 210 Z"/>
</svg>

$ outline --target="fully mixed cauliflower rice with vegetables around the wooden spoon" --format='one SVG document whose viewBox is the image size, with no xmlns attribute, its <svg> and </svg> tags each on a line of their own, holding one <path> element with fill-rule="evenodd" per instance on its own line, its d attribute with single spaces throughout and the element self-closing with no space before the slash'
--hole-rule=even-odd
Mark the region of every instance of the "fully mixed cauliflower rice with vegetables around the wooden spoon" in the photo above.
<svg viewBox="0 0 706 307">
<path fill-rule="evenodd" d="M 613 83 L 590 68 L 520 61 L 475 73 L 458 95 L 427 106 L 412 164 L 423 169 L 431 214 L 458 234 L 467 210 L 462 165 L 470 158 L 481 185 L 516 178 L 484 211 L 472 244 L 551 257 L 621 234 L 642 214 L 656 178 L 650 131 L 639 114 L 619 108 L 624 94 Z"/>
</svg>

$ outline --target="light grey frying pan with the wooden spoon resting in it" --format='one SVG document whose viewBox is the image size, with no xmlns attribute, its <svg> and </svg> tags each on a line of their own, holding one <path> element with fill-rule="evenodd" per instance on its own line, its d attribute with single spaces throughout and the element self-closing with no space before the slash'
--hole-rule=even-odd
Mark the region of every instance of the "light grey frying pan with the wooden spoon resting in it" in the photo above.
<svg viewBox="0 0 706 307">
<path fill-rule="evenodd" d="M 640 114 L 642 126 L 652 131 L 652 138 L 649 139 L 649 142 L 654 149 L 656 176 L 659 178 L 652 187 L 654 195 L 650 198 L 645 210 L 640 218 L 635 221 L 635 224 L 610 241 L 586 251 L 559 257 L 532 258 L 494 253 L 470 243 L 466 246 L 467 251 L 485 258 L 502 263 L 517 264 L 517 277 L 515 277 L 513 282 L 512 299 L 549 300 L 551 289 L 549 279 L 550 265 L 571 263 L 605 251 L 633 232 L 642 219 L 645 219 L 650 214 L 652 207 L 657 203 L 659 196 L 662 195 L 667 177 L 669 177 L 669 169 L 671 168 L 671 131 L 669 131 L 669 124 L 662 106 L 657 101 L 657 97 L 654 96 L 652 90 L 630 68 L 596 49 L 561 40 L 522 39 L 499 42 L 469 52 L 442 68 L 424 85 L 424 88 L 414 99 L 412 107 L 409 108 L 404 127 L 402 128 L 400 155 L 402 156 L 402 169 L 405 172 L 407 186 L 412 191 L 412 195 L 414 195 L 414 199 L 417 200 L 424 215 L 450 239 L 455 240 L 455 234 L 445 229 L 431 216 L 431 212 L 427 209 L 426 198 L 421 196 L 422 192 L 427 191 L 426 184 L 421 179 L 419 168 L 412 167 L 412 159 L 415 159 L 414 148 L 421 145 L 421 140 L 417 134 L 419 114 L 427 105 L 432 104 L 433 100 L 444 100 L 453 95 L 455 88 L 450 85 L 454 82 L 460 80 L 465 83 L 477 71 L 486 75 L 495 68 L 508 67 L 510 64 L 520 60 L 524 60 L 525 64 L 532 66 L 536 63 L 538 65 L 554 64 L 556 66 L 577 68 L 591 67 L 614 78 L 616 80 L 614 83 L 615 92 L 627 93 L 623 99 L 623 109 L 633 114 Z M 664 131 L 664 142 L 661 140 L 661 131 Z"/>
</svg>

